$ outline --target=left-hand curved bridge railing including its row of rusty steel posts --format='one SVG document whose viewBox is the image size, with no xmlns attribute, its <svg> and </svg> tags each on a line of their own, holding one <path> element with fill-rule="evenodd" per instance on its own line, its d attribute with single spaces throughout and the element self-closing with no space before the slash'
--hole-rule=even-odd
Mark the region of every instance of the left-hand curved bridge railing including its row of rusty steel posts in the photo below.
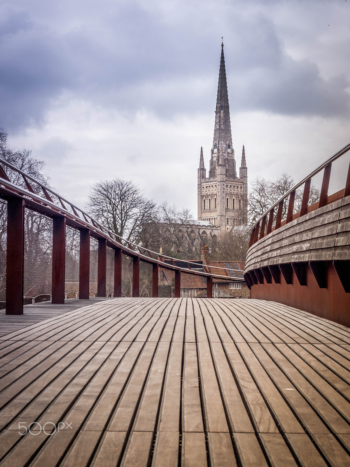
<svg viewBox="0 0 350 467">
<path fill-rule="evenodd" d="M 0 159 L 0 197 L 7 201 L 6 245 L 6 314 L 23 313 L 23 265 L 24 265 L 24 208 L 53 219 L 52 230 L 52 303 L 64 303 L 66 226 L 80 232 L 79 249 L 79 298 L 89 298 L 90 237 L 98 241 L 97 296 L 106 296 L 106 248 L 114 250 L 114 297 L 121 297 L 122 255 L 133 260 L 132 296 L 139 297 L 140 261 L 152 265 L 152 296 L 158 297 L 158 268 L 175 271 L 175 297 L 180 297 L 181 273 L 202 276 L 207 279 L 207 297 L 212 297 L 212 280 L 232 281 L 227 269 L 213 268 L 196 262 L 186 262 L 188 268 L 176 266 L 175 258 L 160 255 L 106 229 L 76 205 L 52 191 L 35 178 Z M 6 168 L 22 177 L 26 189 L 11 183 Z M 165 259 L 170 260 L 165 262 Z M 204 270 L 198 271 L 196 266 Z M 198 268 L 197 268 L 198 269 Z M 217 274 L 223 270 L 223 275 Z M 226 272 L 226 275 L 224 275 Z M 239 273 L 242 273 L 239 270 Z M 243 278 L 235 277 L 236 282 Z"/>
</svg>

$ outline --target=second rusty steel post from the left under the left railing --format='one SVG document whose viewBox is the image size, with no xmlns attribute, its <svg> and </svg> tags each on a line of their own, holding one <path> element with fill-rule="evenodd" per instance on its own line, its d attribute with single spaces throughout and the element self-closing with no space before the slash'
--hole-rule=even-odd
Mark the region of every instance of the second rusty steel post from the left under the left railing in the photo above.
<svg viewBox="0 0 350 467">
<path fill-rule="evenodd" d="M 51 303 L 64 303 L 66 261 L 66 218 L 55 216 L 52 225 L 52 296 Z"/>
</svg>

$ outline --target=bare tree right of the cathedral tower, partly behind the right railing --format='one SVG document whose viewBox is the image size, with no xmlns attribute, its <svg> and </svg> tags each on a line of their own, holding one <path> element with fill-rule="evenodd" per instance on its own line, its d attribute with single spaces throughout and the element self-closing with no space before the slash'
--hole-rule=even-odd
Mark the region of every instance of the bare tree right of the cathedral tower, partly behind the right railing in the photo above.
<svg viewBox="0 0 350 467">
<path fill-rule="evenodd" d="M 287 173 L 283 173 L 280 177 L 269 180 L 264 177 L 254 177 L 250 183 L 248 196 L 248 223 L 250 226 L 261 217 L 274 203 L 276 203 L 287 191 L 294 186 L 293 178 Z M 294 212 L 300 211 L 303 189 L 300 188 L 295 192 Z M 315 203 L 320 198 L 320 190 L 311 185 L 309 205 Z M 288 200 L 284 200 L 282 219 L 287 216 Z M 276 217 L 277 210 L 274 216 Z"/>
</svg>

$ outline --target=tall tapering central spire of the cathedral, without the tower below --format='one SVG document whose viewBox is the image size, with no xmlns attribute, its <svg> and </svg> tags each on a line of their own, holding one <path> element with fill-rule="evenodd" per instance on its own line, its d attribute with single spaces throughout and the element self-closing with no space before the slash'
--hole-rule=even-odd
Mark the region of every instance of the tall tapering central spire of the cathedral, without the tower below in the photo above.
<svg viewBox="0 0 350 467">
<path fill-rule="evenodd" d="M 219 82 L 217 85 L 217 107 L 215 111 L 213 149 L 215 149 L 216 144 L 217 148 L 219 148 L 221 143 L 224 147 L 224 153 L 227 152 L 228 145 L 230 145 L 230 149 L 232 148 L 230 107 L 227 92 L 223 42 L 221 43 Z"/>
</svg>

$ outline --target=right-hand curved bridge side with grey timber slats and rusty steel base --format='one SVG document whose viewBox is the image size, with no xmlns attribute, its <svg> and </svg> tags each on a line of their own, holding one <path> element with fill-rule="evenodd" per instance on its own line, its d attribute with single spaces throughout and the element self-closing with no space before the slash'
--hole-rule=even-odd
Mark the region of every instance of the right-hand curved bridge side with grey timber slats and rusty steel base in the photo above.
<svg viewBox="0 0 350 467">
<path fill-rule="evenodd" d="M 252 298 L 295 306 L 350 326 L 350 165 L 345 188 L 328 196 L 332 163 L 349 150 L 350 143 L 253 226 L 244 273 Z M 311 179 L 322 170 L 319 201 L 308 205 Z M 295 194 L 302 185 L 301 210 L 294 213 Z"/>
</svg>

